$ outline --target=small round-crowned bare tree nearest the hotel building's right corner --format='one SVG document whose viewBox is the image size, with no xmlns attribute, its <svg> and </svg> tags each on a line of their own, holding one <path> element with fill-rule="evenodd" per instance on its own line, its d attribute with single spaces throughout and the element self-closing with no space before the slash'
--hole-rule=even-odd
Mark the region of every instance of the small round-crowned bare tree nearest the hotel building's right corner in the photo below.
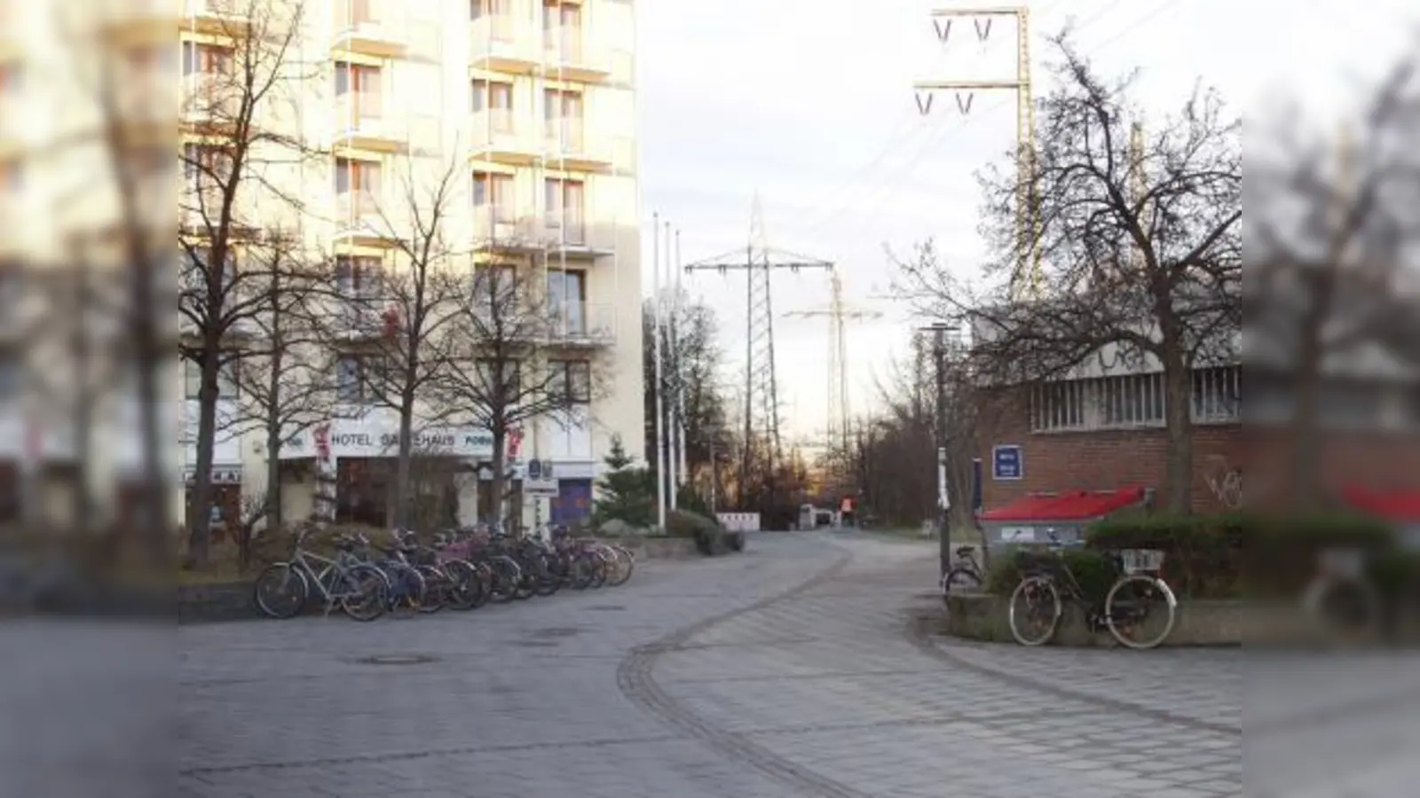
<svg viewBox="0 0 1420 798">
<path fill-rule="evenodd" d="M 444 371 L 442 402 L 493 434 L 493 518 L 504 520 L 508 434 L 537 419 L 572 423 L 571 413 L 604 393 L 608 364 L 596 356 L 596 329 L 578 300 L 557 301 L 534 275 L 537 247 L 497 241 L 474 267 L 467 301 L 456 314 L 457 368 Z M 527 266 L 518 267 L 520 254 Z M 582 419 L 589 420 L 589 419 Z"/>
</svg>

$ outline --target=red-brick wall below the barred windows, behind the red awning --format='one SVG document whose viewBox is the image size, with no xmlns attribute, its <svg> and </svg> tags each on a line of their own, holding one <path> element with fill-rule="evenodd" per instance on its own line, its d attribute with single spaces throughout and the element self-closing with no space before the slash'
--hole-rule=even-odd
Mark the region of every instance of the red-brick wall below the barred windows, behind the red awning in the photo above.
<svg viewBox="0 0 1420 798">
<path fill-rule="evenodd" d="M 1022 392 L 991 396 L 988 417 L 978 422 L 977 456 L 983 464 L 983 501 L 1000 507 L 1035 491 L 1109 490 L 1143 486 L 1167 501 L 1167 440 L 1163 429 L 1032 433 Z M 1291 461 L 1285 430 L 1207 425 L 1193 430 L 1194 511 L 1223 508 L 1214 486 L 1228 470 L 1250 480 L 1277 483 Z M 991 446 L 1020 444 L 1024 479 L 991 479 Z M 1331 433 L 1322 437 L 1323 486 L 1365 483 L 1420 490 L 1420 434 Z M 1252 477 L 1257 480 L 1252 480 Z M 1213 484 L 1210 484 L 1213 483 Z M 1251 488 L 1250 488 L 1251 490 Z"/>
</svg>

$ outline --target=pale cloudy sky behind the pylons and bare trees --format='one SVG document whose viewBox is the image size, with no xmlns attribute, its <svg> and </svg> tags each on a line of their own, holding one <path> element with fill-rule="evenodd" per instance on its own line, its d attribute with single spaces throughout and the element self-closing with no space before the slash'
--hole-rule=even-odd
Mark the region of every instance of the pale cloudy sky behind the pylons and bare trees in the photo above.
<svg viewBox="0 0 1420 798">
<path fill-rule="evenodd" d="M 990 6 L 991 3 L 987 3 Z M 1177 108 L 1196 81 L 1218 88 L 1248 116 L 1278 95 L 1338 115 L 1366 80 L 1413 40 L 1409 3 L 1312 0 L 1032 0 L 1035 94 L 1048 91 L 1045 35 L 1074 20 L 1075 41 L 1105 74 L 1137 68 L 1147 116 Z M 919 80 L 1015 74 L 1015 26 L 997 18 L 978 41 L 957 20 L 939 43 L 939 0 L 686 0 L 638 3 L 638 114 L 643 293 L 652 290 L 652 213 L 680 231 L 682 263 L 743 248 L 755 193 L 771 248 L 834 261 L 851 308 L 883 314 L 848 334 L 851 405 L 872 405 L 889 355 L 920 324 L 889 298 L 888 248 L 933 239 L 954 270 L 971 274 L 977 236 L 974 175 L 1015 136 L 1015 98 L 978 92 L 968 114 L 939 92 L 920 115 Z M 713 9 L 713 10 L 710 10 Z M 1409 17 L 1409 20 L 1407 20 Z M 1250 118 L 1250 116 L 1248 116 Z M 669 277 L 667 277 L 669 280 Z M 726 379 L 738 389 L 744 352 L 744 275 L 682 275 L 721 319 Z M 819 273 L 774 278 L 782 429 L 826 430 L 828 319 L 791 318 L 826 308 Z"/>
</svg>

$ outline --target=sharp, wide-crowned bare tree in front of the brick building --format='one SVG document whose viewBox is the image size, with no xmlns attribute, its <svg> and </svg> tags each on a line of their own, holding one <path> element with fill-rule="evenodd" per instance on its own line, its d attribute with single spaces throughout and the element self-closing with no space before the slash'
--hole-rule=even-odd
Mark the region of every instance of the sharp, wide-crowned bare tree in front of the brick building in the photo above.
<svg viewBox="0 0 1420 798">
<path fill-rule="evenodd" d="M 974 368 L 997 385 L 1093 359 L 1162 369 L 1167 501 L 1187 511 L 1193 369 L 1235 362 L 1241 327 L 1241 121 L 1194 91 L 1145 133 L 1132 77 L 1106 82 L 1064 34 L 1054 44 L 1058 88 L 1041 102 L 1034 158 L 981 177 L 995 256 L 985 290 L 930 246 L 900 264 L 905 288 L 932 315 L 970 324 Z M 1025 298 L 1037 258 L 1039 297 Z"/>
</svg>

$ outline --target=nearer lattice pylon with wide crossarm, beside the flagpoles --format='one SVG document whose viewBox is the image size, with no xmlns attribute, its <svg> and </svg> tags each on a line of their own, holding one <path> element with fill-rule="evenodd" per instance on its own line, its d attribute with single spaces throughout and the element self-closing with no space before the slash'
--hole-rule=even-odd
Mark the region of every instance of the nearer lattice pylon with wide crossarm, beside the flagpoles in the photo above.
<svg viewBox="0 0 1420 798">
<path fill-rule="evenodd" d="M 744 345 L 744 450 L 740 460 L 740 503 L 744 507 L 744 486 L 750 481 L 754 459 L 754 439 L 760 437 L 765 449 L 765 474 L 774 479 L 775 469 L 784 457 L 780 439 L 780 392 L 774 368 L 774 300 L 771 280 L 774 271 L 799 271 L 804 268 L 832 270 L 834 264 L 794 253 L 772 250 L 764 230 L 764 210 L 760 195 L 754 195 L 750 217 L 750 243 L 743 250 L 733 250 L 713 258 L 700 260 L 684 267 L 687 273 L 714 270 L 746 273 L 746 345 Z"/>
</svg>

